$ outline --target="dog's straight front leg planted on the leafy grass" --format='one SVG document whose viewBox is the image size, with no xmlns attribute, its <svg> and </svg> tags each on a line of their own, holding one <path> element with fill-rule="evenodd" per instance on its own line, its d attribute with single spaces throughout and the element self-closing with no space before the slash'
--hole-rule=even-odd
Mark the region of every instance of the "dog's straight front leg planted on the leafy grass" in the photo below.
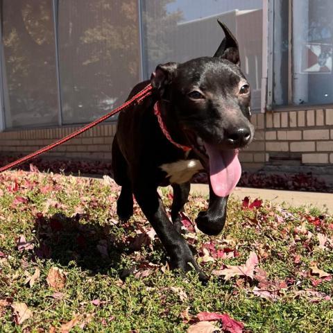
<svg viewBox="0 0 333 333">
<path fill-rule="evenodd" d="M 157 189 L 146 184 L 135 186 L 134 195 L 142 212 L 155 229 L 157 236 L 160 237 L 171 259 L 171 268 L 180 268 L 185 272 L 194 268 L 198 272 L 200 280 L 207 280 L 205 274 L 200 271 L 187 242 L 169 220 Z"/>
</svg>

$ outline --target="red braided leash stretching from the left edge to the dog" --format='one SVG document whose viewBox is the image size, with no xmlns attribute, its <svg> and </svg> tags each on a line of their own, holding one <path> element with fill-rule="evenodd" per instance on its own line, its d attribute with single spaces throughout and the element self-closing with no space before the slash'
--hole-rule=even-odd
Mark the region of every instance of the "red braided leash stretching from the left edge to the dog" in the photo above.
<svg viewBox="0 0 333 333">
<path fill-rule="evenodd" d="M 17 165 L 22 164 L 24 162 L 27 162 L 28 160 L 31 160 L 38 155 L 41 155 L 42 153 L 46 153 L 46 151 L 51 151 L 51 149 L 56 148 L 56 146 L 60 146 L 60 144 L 64 144 L 65 142 L 69 141 L 70 139 L 73 139 L 74 137 L 77 137 L 81 133 L 89 130 L 90 128 L 98 125 L 102 121 L 105 121 L 106 119 L 112 117 L 114 114 L 120 112 L 123 109 L 128 108 L 128 106 L 134 104 L 134 103 L 140 103 L 143 99 L 145 99 L 147 96 L 151 95 L 151 89 L 153 87 L 151 84 L 148 84 L 144 89 L 141 90 L 141 92 L 138 92 L 135 96 L 133 96 L 131 99 L 129 99 L 127 102 L 123 103 L 123 105 L 120 105 L 118 108 L 112 110 L 108 114 L 105 114 L 105 116 L 96 119 L 92 123 L 89 123 L 88 125 L 84 126 L 83 128 L 80 128 L 79 130 L 74 131 L 73 133 L 67 135 L 67 137 L 63 137 L 62 139 L 53 142 L 53 144 L 49 144 L 49 146 L 45 146 L 44 148 L 40 148 L 38 151 L 35 151 L 34 153 L 31 153 L 29 155 L 26 155 L 22 158 L 19 158 L 19 160 L 16 160 L 15 162 L 12 162 L 10 164 L 5 165 L 4 167 L 0 168 L 0 173 L 3 171 L 6 171 L 8 169 L 11 169 L 13 167 L 17 167 Z"/>
</svg>

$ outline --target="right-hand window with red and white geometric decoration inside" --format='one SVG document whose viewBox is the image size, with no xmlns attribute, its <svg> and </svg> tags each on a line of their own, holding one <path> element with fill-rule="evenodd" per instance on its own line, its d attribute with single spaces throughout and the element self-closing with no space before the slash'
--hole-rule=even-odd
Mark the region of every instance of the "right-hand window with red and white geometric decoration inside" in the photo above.
<svg viewBox="0 0 333 333">
<path fill-rule="evenodd" d="M 273 105 L 333 103 L 333 1 L 275 0 Z"/>
</svg>

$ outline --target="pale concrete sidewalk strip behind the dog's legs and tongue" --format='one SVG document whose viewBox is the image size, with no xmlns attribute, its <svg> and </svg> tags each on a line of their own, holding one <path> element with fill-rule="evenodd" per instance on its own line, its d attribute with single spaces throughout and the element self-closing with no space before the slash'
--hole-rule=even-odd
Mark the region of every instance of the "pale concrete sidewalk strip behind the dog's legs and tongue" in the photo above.
<svg viewBox="0 0 333 333">
<path fill-rule="evenodd" d="M 191 194 L 208 195 L 208 185 L 191 184 Z M 278 189 L 254 189 L 250 187 L 236 187 L 232 196 L 243 200 L 245 196 L 252 199 L 261 198 L 272 203 L 286 203 L 287 207 L 318 207 L 333 214 L 333 194 L 319 192 L 282 191 Z"/>
</svg>

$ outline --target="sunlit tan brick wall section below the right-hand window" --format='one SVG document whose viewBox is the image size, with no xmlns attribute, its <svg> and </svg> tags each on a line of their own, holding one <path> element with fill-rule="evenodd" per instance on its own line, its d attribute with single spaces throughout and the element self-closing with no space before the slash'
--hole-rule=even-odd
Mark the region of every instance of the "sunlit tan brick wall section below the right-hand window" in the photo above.
<svg viewBox="0 0 333 333">
<path fill-rule="evenodd" d="M 266 114 L 266 160 L 299 159 L 302 164 L 333 163 L 333 109 Z"/>
</svg>

